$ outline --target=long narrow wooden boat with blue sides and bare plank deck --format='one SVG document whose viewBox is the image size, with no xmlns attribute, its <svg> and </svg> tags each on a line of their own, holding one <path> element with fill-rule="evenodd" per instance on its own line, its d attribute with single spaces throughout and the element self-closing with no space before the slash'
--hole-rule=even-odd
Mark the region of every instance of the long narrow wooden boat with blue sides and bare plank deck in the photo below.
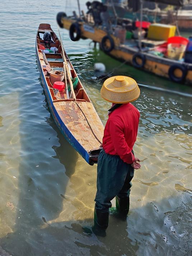
<svg viewBox="0 0 192 256">
<path fill-rule="evenodd" d="M 46 31 L 51 33 L 52 43 L 50 47 L 56 47 L 58 49 L 57 53 L 45 53 L 41 50 L 42 46 L 45 46 L 43 34 Z M 43 89 L 51 114 L 69 143 L 87 163 L 93 165 L 97 163 L 104 126 L 66 52 L 65 57 L 71 77 L 72 79 L 78 78 L 78 85 L 74 90 L 76 101 L 74 98 L 67 99 L 65 90 L 55 93 L 53 84 L 50 81 L 50 70 L 62 70 L 64 60 L 62 59 L 63 53 L 61 49 L 61 42 L 52 31 L 50 24 L 40 24 L 36 35 L 36 56 Z M 69 84 L 69 80 L 67 80 L 67 83 Z"/>
</svg>

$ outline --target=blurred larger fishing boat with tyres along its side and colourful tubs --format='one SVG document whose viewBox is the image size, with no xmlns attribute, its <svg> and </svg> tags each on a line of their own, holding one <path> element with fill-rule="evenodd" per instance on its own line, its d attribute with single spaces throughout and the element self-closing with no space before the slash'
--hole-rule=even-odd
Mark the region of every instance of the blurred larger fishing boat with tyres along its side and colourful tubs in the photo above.
<svg viewBox="0 0 192 256">
<path fill-rule="evenodd" d="M 99 43 L 105 53 L 126 64 L 168 78 L 173 82 L 191 85 L 192 41 L 191 50 L 188 52 L 186 47 L 189 40 L 175 37 L 175 26 L 143 22 L 143 0 L 140 1 L 141 18 L 135 23 L 135 30 L 132 24 L 126 24 L 125 19 L 118 17 L 111 27 L 109 24 L 99 23 L 99 18 L 95 18 L 99 13 L 97 7 L 95 13 L 93 10 L 85 14 L 79 9 L 79 15 L 74 11 L 73 15 L 68 17 L 60 12 L 57 15 L 57 22 L 60 27 L 69 29 L 72 41 L 90 38 L 95 43 Z M 95 2 L 97 1 L 93 1 L 94 4 Z M 156 2 L 165 3 L 165 0 Z M 166 0 L 166 3 L 181 6 L 183 0 Z M 130 32 L 134 36 L 129 38 Z"/>
</svg>

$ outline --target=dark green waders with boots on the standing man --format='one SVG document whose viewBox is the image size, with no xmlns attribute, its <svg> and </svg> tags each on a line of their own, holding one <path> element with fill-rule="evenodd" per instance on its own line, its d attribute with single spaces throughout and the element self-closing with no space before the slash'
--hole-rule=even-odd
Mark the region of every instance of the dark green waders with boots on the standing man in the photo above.
<svg viewBox="0 0 192 256">
<path fill-rule="evenodd" d="M 94 227 L 106 229 L 109 221 L 111 200 L 116 197 L 116 208 L 124 216 L 129 210 L 129 195 L 134 176 L 131 164 L 118 155 L 106 154 L 102 149 L 97 166 L 97 194 L 95 197 Z"/>
</svg>

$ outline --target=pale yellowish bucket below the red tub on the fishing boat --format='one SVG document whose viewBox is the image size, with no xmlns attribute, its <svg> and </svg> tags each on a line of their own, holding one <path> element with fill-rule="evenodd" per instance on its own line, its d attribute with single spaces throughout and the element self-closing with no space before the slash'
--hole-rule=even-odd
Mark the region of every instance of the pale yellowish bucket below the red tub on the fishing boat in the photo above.
<svg viewBox="0 0 192 256">
<path fill-rule="evenodd" d="M 167 47 L 167 56 L 169 59 L 181 60 L 185 50 L 186 45 L 181 45 L 179 43 L 169 43 Z"/>
</svg>

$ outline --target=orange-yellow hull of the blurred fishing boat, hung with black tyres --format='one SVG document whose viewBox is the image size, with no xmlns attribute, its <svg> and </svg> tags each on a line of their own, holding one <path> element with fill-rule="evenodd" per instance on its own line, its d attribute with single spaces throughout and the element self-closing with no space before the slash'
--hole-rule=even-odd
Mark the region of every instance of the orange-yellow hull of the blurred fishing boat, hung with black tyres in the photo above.
<svg viewBox="0 0 192 256">
<path fill-rule="evenodd" d="M 148 71 L 155 75 L 167 78 L 173 82 L 192 85 L 192 64 L 181 62 L 165 57 L 156 56 L 153 51 L 165 41 L 152 41 L 143 39 L 142 45 L 148 48 L 147 51 L 140 52 L 137 47 L 138 43 L 134 40 L 126 40 L 120 42 L 120 38 L 110 34 L 102 29 L 102 26 L 95 26 L 91 20 L 88 20 L 86 15 L 78 18 L 74 15 L 67 17 L 65 13 L 58 13 L 60 27 L 68 29 L 71 40 L 78 41 L 80 38 L 92 39 L 99 43 L 101 50 L 108 55 L 139 68 Z M 77 36 L 74 37 L 75 32 Z M 151 50 L 150 50 L 151 49 Z"/>
</svg>

